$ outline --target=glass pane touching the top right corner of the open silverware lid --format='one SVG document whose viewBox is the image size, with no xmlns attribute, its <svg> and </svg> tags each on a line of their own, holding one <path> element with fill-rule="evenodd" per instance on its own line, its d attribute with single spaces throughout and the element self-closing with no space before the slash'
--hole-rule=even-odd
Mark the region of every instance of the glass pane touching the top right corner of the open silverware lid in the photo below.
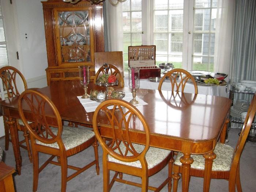
<svg viewBox="0 0 256 192">
<path fill-rule="evenodd" d="M 157 54 L 167 54 L 168 48 L 168 35 L 167 33 L 155 34 L 155 45 Z"/>
</svg>

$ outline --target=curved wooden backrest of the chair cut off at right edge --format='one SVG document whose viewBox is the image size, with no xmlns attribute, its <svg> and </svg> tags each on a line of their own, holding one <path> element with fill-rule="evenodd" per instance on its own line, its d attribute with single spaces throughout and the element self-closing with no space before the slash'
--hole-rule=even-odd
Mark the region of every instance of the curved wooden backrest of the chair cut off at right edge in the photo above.
<svg viewBox="0 0 256 192">
<path fill-rule="evenodd" d="M 235 181 L 236 181 L 237 167 L 239 165 L 240 157 L 241 157 L 246 139 L 252 127 L 252 122 L 255 117 L 255 112 L 256 112 L 256 93 L 253 96 L 247 115 L 245 117 L 244 125 L 242 127 L 242 130 L 237 142 L 237 146 L 235 148 L 235 154 L 234 154 L 234 158 L 230 168 L 229 180 L 233 180 L 234 183 L 236 183 Z"/>
</svg>

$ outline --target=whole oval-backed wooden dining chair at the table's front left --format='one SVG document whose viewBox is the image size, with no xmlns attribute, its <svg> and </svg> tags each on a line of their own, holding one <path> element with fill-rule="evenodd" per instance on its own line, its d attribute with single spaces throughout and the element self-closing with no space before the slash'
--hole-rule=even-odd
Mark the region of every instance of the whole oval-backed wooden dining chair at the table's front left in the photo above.
<svg viewBox="0 0 256 192">
<path fill-rule="evenodd" d="M 49 163 L 61 166 L 61 192 L 66 191 L 67 181 L 94 164 L 97 175 L 99 174 L 98 142 L 93 131 L 83 127 L 64 126 L 54 103 L 46 95 L 35 90 L 26 90 L 19 96 L 18 110 L 23 123 L 30 132 L 33 155 L 33 191 L 37 191 L 38 174 Z M 37 129 L 33 129 L 27 123 L 27 117 L 34 122 Z M 95 160 L 82 168 L 67 164 L 68 157 L 90 146 L 94 147 Z M 40 167 L 39 153 L 51 155 Z M 54 157 L 57 157 L 57 161 L 53 161 Z M 67 168 L 76 171 L 68 176 Z"/>
</svg>

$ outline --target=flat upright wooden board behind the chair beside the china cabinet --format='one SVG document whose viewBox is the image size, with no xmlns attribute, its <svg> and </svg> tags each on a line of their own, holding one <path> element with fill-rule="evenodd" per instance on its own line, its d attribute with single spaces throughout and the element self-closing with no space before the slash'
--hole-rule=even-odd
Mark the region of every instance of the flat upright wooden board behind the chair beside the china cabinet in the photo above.
<svg viewBox="0 0 256 192">
<path fill-rule="evenodd" d="M 102 67 L 104 63 L 114 65 L 118 68 L 121 75 L 124 76 L 123 52 L 109 51 L 94 53 L 95 72 Z"/>
</svg>

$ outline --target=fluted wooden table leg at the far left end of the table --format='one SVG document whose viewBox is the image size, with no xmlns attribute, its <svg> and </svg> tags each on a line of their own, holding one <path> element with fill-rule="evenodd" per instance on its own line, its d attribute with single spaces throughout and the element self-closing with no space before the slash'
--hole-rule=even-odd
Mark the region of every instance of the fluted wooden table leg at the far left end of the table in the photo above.
<svg viewBox="0 0 256 192">
<path fill-rule="evenodd" d="M 14 152 L 14 157 L 16 161 L 16 170 L 18 174 L 21 174 L 21 165 L 22 165 L 22 158 L 20 155 L 19 149 L 19 136 L 18 136 L 18 129 L 16 128 L 16 121 L 12 117 L 8 117 L 8 121 L 6 122 L 9 125 L 10 135 L 12 139 L 12 147 Z"/>
</svg>

